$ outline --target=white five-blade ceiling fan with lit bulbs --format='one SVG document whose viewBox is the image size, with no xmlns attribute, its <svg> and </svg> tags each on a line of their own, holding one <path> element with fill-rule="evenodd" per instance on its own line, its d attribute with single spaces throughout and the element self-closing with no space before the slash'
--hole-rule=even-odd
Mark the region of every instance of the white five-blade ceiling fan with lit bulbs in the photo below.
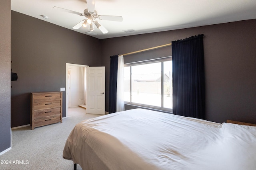
<svg viewBox="0 0 256 170">
<path fill-rule="evenodd" d="M 84 10 L 84 14 L 80 12 L 60 8 L 57 6 L 54 6 L 53 8 L 57 8 L 64 12 L 69 12 L 79 16 L 85 16 L 86 19 L 80 21 L 78 24 L 72 27 L 73 29 L 79 29 L 81 26 L 83 26 L 85 28 L 90 27 L 90 31 L 94 31 L 94 25 L 95 25 L 98 29 L 100 29 L 102 33 L 105 34 L 105 33 L 108 33 L 108 30 L 105 27 L 103 27 L 97 20 L 108 20 L 108 21 L 119 21 L 119 22 L 123 21 L 122 16 L 98 15 L 97 11 L 95 10 L 95 0 L 86 0 L 86 2 L 87 2 L 87 9 Z"/>
</svg>

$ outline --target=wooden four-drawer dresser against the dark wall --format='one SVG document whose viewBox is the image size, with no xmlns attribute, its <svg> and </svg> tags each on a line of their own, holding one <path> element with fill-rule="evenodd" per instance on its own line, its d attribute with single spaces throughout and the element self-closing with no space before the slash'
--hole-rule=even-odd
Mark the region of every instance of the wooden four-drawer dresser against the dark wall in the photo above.
<svg viewBox="0 0 256 170">
<path fill-rule="evenodd" d="M 62 123 L 62 92 L 31 93 L 30 102 L 32 130 L 52 123 Z"/>
</svg>

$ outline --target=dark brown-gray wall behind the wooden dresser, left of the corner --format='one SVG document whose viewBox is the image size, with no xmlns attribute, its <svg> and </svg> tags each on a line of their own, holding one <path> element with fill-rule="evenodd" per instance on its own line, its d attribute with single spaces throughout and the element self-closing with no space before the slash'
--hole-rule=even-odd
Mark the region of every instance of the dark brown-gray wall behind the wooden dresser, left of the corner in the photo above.
<svg viewBox="0 0 256 170">
<path fill-rule="evenodd" d="M 30 124 L 30 92 L 66 87 L 66 63 L 100 66 L 100 40 L 12 11 L 11 127 Z M 66 93 L 63 93 L 63 117 Z"/>
</svg>

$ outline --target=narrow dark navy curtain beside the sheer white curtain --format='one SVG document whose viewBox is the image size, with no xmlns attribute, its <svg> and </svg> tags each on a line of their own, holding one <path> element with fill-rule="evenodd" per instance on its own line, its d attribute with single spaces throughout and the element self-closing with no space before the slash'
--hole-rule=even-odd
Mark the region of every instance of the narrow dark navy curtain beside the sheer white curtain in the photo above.
<svg viewBox="0 0 256 170">
<path fill-rule="evenodd" d="M 108 113 L 115 113 L 116 112 L 117 68 L 118 68 L 118 55 L 111 56 L 110 57 Z"/>
</svg>

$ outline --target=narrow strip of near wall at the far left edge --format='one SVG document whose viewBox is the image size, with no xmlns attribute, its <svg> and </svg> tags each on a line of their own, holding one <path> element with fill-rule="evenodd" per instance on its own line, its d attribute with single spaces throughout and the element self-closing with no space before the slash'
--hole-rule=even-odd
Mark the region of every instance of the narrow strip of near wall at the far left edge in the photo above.
<svg viewBox="0 0 256 170">
<path fill-rule="evenodd" d="M 11 1 L 0 1 L 0 152 L 11 147 Z"/>
</svg>

